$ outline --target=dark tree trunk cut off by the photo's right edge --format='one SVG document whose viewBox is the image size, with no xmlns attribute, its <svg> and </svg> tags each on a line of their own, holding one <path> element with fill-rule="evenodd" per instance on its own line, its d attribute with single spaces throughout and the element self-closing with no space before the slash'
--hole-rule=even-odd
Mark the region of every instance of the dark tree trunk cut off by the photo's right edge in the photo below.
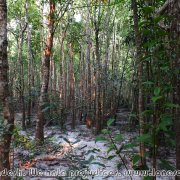
<svg viewBox="0 0 180 180">
<path fill-rule="evenodd" d="M 180 3 L 174 0 L 171 4 L 172 22 L 171 22 L 171 49 L 174 64 L 174 103 L 180 105 Z M 176 169 L 180 170 L 180 108 L 175 109 L 175 133 L 176 133 Z M 176 176 L 180 180 L 180 176 Z"/>
</svg>

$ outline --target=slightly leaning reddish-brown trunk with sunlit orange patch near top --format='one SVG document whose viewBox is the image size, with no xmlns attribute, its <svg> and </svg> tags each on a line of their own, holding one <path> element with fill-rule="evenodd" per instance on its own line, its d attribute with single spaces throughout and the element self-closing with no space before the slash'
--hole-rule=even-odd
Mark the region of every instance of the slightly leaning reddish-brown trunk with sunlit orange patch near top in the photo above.
<svg viewBox="0 0 180 180">
<path fill-rule="evenodd" d="M 38 107 L 38 119 L 36 122 L 36 140 L 39 142 L 44 141 L 44 110 L 48 100 L 48 84 L 49 84 L 49 69 L 50 69 L 50 56 L 53 47 L 53 35 L 54 35 L 54 13 L 55 2 L 49 1 L 49 18 L 48 18 L 48 35 L 46 40 L 46 47 L 44 49 L 44 58 L 42 62 L 42 85 L 39 98 Z"/>
</svg>

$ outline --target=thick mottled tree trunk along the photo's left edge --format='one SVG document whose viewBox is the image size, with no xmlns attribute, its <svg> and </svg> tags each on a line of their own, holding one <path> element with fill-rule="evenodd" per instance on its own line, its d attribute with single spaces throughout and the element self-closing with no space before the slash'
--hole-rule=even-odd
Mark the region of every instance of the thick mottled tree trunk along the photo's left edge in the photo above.
<svg viewBox="0 0 180 180">
<path fill-rule="evenodd" d="M 2 171 L 10 169 L 9 151 L 14 126 L 8 80 L 6 0 L 0 0 L 0 25 L 0 171 Z M 1 177 L 1 180 L 10 180 L 10 177 Z"/>
</svg>

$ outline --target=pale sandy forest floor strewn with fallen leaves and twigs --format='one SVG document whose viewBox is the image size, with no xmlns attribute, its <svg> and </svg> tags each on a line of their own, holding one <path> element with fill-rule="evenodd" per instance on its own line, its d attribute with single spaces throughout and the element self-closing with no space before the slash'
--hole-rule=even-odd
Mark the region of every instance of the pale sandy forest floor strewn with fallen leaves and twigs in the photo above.
<svg viewBox="0 0 180 180">
<path fill-rule="evenodd" d="M 121 134 L 123 137 L 117 144 L 118 148 L 123 144 L 130 143 L 138 135 L 135 129 L 132 131 L 129 128 L 129 113 L 126 108 L 119 109 L 116 126 L 111 126 L 112 136 Z M 17 119 L 18 116 L 17 114 Z M 34 143 L 35 128 L 27 131 L 19 130 L 19 144 L 16 142 L 13 148 L 13 167 L 19 168 L 24 176 L 26 175 L 22 178 L 24 180 L 130 180 L 130 177 L 124 175 L 126 168 L 120 157 L 114 151 L 107 154 L 108 143 L 106 141 L 95 142 L 96 137 L 92 131 L 83 124 L 79 124 L 75 130 L 71 130 L 70 126 L 67 126 L 64 131 L 60 130 L 58 126 L 46 127 L 45 143 L 37 146 Z M 138 148 L 122 149 L 120 154 L 128 170 L 133 170 L 132 154 L 137 152 Z M 97 172 L 98 170 L 99 172 Z M 86 172 L 95 174 L 82 175 Z M 69 177 L 63 177 L 67 173 Z M 99 174 L 96 175 L 96 173 Z M 39 177 L 35 177 L 37 174 Z M 133 176 L 132 179 L 141 180 L 143 178 Z M 171 177 L 157 179 L 173 180 Z"/>
</svg>

